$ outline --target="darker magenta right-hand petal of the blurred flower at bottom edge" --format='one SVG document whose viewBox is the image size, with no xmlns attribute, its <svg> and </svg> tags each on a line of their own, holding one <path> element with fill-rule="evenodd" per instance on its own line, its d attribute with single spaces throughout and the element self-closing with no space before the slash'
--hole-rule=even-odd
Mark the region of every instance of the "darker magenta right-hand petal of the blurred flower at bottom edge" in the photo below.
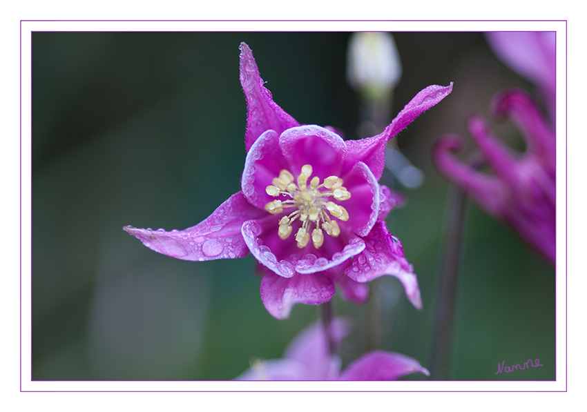
<svg viewBox="0 0 587 412">
<path fill-rule="evenodd" d="M 420 362 L 401 353 L 372 351 L 347 366 L 338 380 L 395 380 L 412 373 L 430 373 Z"/>
</svg>

